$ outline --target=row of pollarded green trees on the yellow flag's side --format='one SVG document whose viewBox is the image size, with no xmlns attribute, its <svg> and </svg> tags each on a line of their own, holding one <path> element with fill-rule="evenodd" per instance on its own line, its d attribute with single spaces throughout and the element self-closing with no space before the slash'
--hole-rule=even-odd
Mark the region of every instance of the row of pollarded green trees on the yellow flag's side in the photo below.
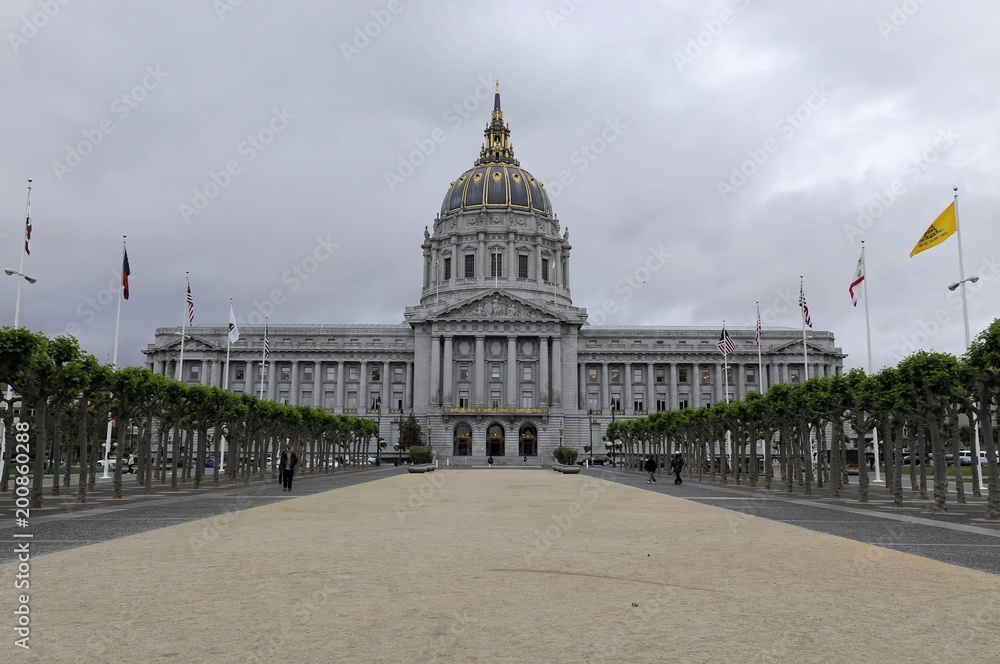
<svg viewBox="0 0 1000 664">
<path fill-rule="evenodd" d="M 952 455 L 956 498 L 965 502 L 958 452 L 971 442 L 969 423 L 978 426 L 985 450 L 988 485 L 986 518 L 1000 519 L 997 463 L 997 406 L 1000 403 L 1000 319 L 984 330 L 961 358 L 917 352 L 874 375 L 855 369 L 840 376 L 782 384 L 742 401 L 698 409 L 663 411 L 616 422 L 607 438 L 621 441 L 626 467 L 638 468 L 646 455 L 666 458 L 680 452 L 687 472 L 699 477 L 785 491 L 798 484 L 811 493 L 813 482 L 827 484 L 834 497 L 847 483 L 848 435 L 860 441 L 877 436 L 887 486 L 896 506 L 903 504 L 904 457 L 910 488 L 927 498 L 927 468 L 933 464 L 935 511 L 946 511 L 948 454 Z M 727 440 L 731 457 L 727 463 Z M 758 467 L 762 449 L 763 463 Z M 866 445 L 858 444 L 861 502 L 867 502 Z M 815 462 L 813 450 L 817 452 Z M 928 453 L 929 450 L 929 453 Z M 775 477 L 775 467 L 778 477 Z M 919 478 L 918 469 L 919 468 Z M 979 495 L 980 467 L 972 459 L 972 487 Z M 761 477 L 763 473 L 763 477 Z"/>
</svg>

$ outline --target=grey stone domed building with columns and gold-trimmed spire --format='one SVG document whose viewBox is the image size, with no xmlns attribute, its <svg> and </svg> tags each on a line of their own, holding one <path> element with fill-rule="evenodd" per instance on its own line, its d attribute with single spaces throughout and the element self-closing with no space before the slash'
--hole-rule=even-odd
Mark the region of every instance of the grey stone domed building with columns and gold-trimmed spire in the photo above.
<svg viewBox="0 0 1000 664">
<path fill-rule="evenodd" d="M 552 459 L 560 443 L 593 444 L 613 418 L 724 401 L 719 329 L 594 327 L 571 297 L 572 246 L 541 182 L 521 168 L 499 89 L 472 168 L 445 192 L 424 228 L 420 302 L 399 324 L 293 324 L 187 329 L 182 380 L 262 394 L 290 405 L 380 422 L 389 449 L 413 413 L 438 459 Z M 179 327 L 156 330 L 149 368 L 177 375 Z M 831 332 L 769 328 L 759 375 L 753 329 L 731 329 L 730 399 L 777 383 L 839 374 Z"/>
</svg>

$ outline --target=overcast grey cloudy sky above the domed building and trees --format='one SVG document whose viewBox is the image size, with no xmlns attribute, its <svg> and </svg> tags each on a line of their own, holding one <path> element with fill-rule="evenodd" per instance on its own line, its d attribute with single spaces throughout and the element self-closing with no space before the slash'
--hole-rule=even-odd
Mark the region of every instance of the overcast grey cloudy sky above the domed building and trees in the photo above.
<svg viewBox="0 0 1000 664">
<path fill-rule="evenodd" d="M 1000 7 L 989 0 L 6 0 L 0 258 L 20 323 L 119 365 L 158 327 L 401 323 L 424 226 L 500 80 L 515 156 L 605 325 L 800 326 L 866 367 L 961 354 L 997 314 Z M 650 267 L 654 269 L 649 269 Z M 2 276 L 2 275 L 0 275 Z M 645 281 L 643 281 L 645 280 Z M 12 324 L 17 282 L 0 281 Z"/>
</svg>

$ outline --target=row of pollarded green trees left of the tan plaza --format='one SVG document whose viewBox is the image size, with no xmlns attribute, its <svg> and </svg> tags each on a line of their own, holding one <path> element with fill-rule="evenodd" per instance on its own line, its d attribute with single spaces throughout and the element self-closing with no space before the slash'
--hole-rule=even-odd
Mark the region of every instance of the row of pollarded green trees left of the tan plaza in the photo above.
<svg viewBox="0 0 1000 664">
<path fill-rule="evenodd" d="M 44 491 L 43 459 L 52 471 L 52 494 L 71 490 L 78 469 L 77 502 L 86 502 L 109 426 L 116 498 L 122 495 L 123 462 L 130 454 L 136 479 L 149 494 L 154 480 L 169 482 L 172 490 L 178 482 L 200 487 L 210 455 L 216 460 L 214 485 L 273 477 L 286 441 L 295 445 L 305 473 L 328 473 L 335 460 L 348 467 L 367 464 L 369 445 L 378 435 L 376 423 L 366 418 L 188 385 L 144 368 L 116 370 L 99 364 L 73 337 L 50 339 L 24 328 L 0 328 L 0 384 L 6 432 L 0 492 L 9 490 L 14 466 L 27 456 L 36 508 Z M 218 463 L 223 438 L 224 472 Z M 272 468 L 267 459 L 275 460 Z"/>
</svg>

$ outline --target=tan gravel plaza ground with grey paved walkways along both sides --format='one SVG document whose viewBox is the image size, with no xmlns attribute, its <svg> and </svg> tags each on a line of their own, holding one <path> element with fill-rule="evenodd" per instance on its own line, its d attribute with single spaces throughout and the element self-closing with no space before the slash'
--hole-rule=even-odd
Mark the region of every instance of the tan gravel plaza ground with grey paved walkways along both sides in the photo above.
<svg viewBox="0 0 1000 664">
<path fill-rule="evenodd" d="M 995 661 L 1000 528 L 912 503 L 382 467 L 4 512 L 0 660 Z"/>
</svg>

